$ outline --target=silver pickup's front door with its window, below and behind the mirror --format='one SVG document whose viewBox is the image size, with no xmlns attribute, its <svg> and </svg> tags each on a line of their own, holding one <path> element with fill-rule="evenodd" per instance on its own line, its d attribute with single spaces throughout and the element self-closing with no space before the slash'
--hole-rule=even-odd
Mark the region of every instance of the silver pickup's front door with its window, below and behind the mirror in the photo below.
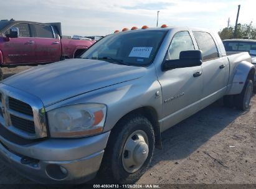
<svg viewBox="0 0 256 189">
<path fill-rule="evenodd" d="M 165 60 L 179 59 L 179 53 L 195 50 L 188 31 L 174 35 Z M 163 95 L 163 129 L 166 130 L 199 110 L 202 94 L 202 67 L 176 68 L 159 73 Z"/>
</svg>

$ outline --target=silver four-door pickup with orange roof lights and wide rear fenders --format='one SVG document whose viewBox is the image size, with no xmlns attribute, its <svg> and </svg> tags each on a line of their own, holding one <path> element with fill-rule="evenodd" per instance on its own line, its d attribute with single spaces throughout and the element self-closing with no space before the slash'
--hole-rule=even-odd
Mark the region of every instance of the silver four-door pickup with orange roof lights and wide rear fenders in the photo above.
<svg viewBox="0 0 256 189">
<path fill-rule="evenodd" d="M 40 183 L 87 182 L 97 172 L 133 183 L 164 130 L 222 97 L 249 108 L 249 53 L 227 56 L 204 29 L 143 28 L 2 80 L 0 159 Z"/>
</svg>

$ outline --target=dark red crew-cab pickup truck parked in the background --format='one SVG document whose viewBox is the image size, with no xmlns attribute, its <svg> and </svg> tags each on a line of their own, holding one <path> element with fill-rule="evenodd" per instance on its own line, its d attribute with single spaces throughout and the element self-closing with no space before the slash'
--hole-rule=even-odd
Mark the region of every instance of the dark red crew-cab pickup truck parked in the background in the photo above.
<svg viewBox="0 0 256 189">
<path fill-rule="evenodd" d="M 95 40 L 62 38 L 60 23 L 0 21 L 0 65 L 50 63 L 80 55 Z"/>
</svg>

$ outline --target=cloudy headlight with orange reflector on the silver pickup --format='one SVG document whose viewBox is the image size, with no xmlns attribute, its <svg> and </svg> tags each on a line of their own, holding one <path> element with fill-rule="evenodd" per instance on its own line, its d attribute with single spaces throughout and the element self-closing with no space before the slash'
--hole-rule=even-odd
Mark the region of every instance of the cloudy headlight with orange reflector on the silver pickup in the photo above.
<svg viewBox="0 0 256 189">
<path fill-rule="evenodd" d="M 73 104 L 47 113 L 50 136 L 82 137 L 103 131 L 107 107 L 104 104 Z"/>
</svg>

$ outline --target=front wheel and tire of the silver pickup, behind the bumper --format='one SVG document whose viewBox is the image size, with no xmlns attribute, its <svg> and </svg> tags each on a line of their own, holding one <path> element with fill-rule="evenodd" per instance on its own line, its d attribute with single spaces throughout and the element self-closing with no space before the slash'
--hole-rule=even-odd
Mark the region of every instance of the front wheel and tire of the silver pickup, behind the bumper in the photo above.
<svg viewBox="0 0 256 189">
<path fill-rule="evenodd" d="M 135 183 L 149 167 L 154 153 L 154 129 L 145 116 L 131 115 L 111 131 L 103 166 L 118 183 Z"/>
</svg>

